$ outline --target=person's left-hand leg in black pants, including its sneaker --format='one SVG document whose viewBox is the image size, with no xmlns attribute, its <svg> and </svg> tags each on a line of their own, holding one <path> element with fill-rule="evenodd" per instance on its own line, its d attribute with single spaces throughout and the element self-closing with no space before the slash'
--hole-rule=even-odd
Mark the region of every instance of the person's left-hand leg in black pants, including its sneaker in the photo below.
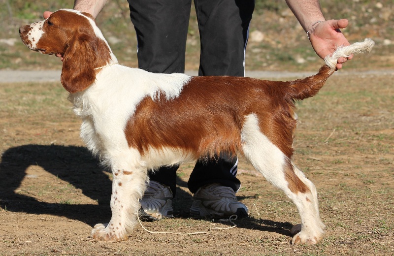
<svg viewBox="0 0 394 256">
<path fill-rule="evenodd" d="M 138 67 L 154 73 L 183 73 L 191 0 L 128 1 L 137 35 Z M 150 184 L 140 201 L 149 215 L 140 212 L 142 217 L 172 215 L 178 167 L 163 166 L 149 173 Z"/>
</svg>

